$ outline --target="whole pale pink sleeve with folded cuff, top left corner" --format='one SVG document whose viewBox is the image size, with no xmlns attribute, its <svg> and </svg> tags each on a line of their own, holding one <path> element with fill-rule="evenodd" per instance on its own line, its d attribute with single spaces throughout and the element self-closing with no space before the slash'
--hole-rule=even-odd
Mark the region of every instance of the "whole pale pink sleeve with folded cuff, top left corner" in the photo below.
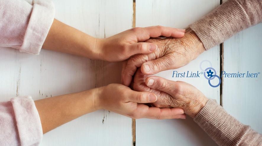
<svg viewBox="0 0 262 146">
<path fill-rule="evenodd" d="M 54 20 L 49 0 L 0 0 L 0 46 L 39 54 Z"/>
</svg>

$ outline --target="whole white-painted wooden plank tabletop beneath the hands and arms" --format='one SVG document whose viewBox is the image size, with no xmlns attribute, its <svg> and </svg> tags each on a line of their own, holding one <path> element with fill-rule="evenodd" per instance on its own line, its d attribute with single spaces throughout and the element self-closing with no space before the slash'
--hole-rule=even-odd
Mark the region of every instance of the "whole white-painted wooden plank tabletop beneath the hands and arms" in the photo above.
<svg viewBox="0 0 262 146">
<path fill-rule="evenodd" d="M 187 28 L 220 5 L 220 0 L 54 0 L 55 18 L 94 37 L 109 37 L 134 25 L 163 25 Z M 133 11 L 136 12 L 133 15 Z M 177 71 L 197 71 L 210 60 L 217 72 L 262 71 L 262 24 L 246 29 L 216 46 Z M 221 57 L 222 55 L 222 57 Z M 221 65 L 222 64 L 222 65 Z M 203 64 L 208 67 L 208 64 Z M 203 68 L 204 68 L 203 67 Z M 120 83 L 120 63 L 41 50 L 40 55 L 0 47 L 0 98 L 31 95 L 34 100 L 83 91 L 109 83 Z M 172 70 L 157 74 L 170 80 Z M 212 88 L 203 78 L 179 78 L 216 99 L 234 117 L 262 132 L 262 79 L 223 78 L 223 86 Z M 216 82 L 216 81 L 214 81 Z M 132 134 L 135 130 L 135 134 Z M 135 136 L 135 137 L 133 137 Z M 132 119 L 100 110 L 43 136 L 41 145 L 216 145 L 187 117 L 186 120 Z"/>
</svg>

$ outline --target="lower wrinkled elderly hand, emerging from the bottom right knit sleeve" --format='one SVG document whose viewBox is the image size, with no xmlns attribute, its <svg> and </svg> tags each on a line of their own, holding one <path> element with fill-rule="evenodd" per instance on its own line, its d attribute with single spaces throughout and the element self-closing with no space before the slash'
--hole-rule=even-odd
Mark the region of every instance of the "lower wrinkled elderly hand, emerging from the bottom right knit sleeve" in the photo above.
<svg viewBox="0 0 262 146">
<path fill-rule="evenodd" d="M 143 75 L 140 68 L 135 73 L 133 88 L 136 91 L 155 93 L 158 100 L 152 103 L 154 106 L 181 108 L 185 114 L 193 118 L 208 101 L 201 91 L 188 83 L 157 76 L 148 77 Z"/>
</svg>

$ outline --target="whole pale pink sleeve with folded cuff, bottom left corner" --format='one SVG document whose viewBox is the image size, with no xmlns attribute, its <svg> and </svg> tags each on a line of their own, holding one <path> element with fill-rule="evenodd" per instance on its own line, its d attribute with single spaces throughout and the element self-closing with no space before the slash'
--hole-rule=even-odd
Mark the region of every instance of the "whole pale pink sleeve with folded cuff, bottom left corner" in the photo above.
<svg viewBox="0 0 262 146">
<path fill-rule="evenodd" d="M 39 145 L 43 137 L 40 117 L 30 96 L 0 102 L 0 145 Z"/>
</svg>

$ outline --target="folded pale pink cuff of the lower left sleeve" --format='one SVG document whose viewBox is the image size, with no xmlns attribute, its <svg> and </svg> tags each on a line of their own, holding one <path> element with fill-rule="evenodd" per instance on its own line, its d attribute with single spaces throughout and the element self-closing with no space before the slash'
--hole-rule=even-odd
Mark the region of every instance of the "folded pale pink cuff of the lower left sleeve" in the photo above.
<svg viewBox="0 0 262 146">
<path fill-rule="evenodd" d="M 11 102 L 21 145 L 39 145 L 43 131 L 35 102 L 30 96 L 15 97 Z"/>
</svg>

